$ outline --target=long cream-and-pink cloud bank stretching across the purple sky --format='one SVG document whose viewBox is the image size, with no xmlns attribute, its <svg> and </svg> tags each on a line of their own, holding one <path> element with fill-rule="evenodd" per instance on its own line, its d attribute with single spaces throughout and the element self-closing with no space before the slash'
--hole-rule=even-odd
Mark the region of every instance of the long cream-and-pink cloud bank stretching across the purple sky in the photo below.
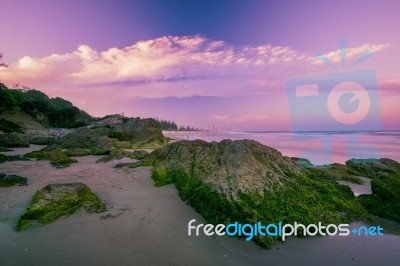
<svg viewBox="0 0 400 266">
<path fill-rule="evenodd" d="M 388 44 L 349 48 L 349 57 Z M 327 54 L 337 61 L 339 51 Z M 81 45 L 66 54 L 25 56 L 0 69 L 0 80 L 41 89 L 118 87 L 129 97 L 259 94 L 315 67 L 314 55 L 270 44 L 234 46 L 201 35 L 165 36 L 97 51 Z M 184 85 L 176 85 L 183 83 Z"/>
</svg>

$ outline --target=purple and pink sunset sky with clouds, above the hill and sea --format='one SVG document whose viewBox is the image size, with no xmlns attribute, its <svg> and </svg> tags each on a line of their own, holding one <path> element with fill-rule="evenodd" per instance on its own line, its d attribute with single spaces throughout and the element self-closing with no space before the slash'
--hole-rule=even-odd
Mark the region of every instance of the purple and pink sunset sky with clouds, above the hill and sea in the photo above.
<svg viewBox="0 0 400 266">
<path fill-rule="evenodd" d="M 0 0 L 0 8 L 8 65 L 0 82 L 93 116 L 249 131 L 400 129 L 399 1 Z"/>
</svg>

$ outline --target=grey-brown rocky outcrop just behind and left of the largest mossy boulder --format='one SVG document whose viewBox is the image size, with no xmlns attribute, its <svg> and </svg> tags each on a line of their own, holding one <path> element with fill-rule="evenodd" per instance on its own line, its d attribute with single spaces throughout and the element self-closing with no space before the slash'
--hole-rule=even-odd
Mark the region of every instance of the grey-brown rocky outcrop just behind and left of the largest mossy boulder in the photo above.
<svg viewBox="0 0 400 266">
<path fill-rule="evenodd" d="M 48 149 L 85 148 L 91 149 L 93 154 L 108 154 L 115 148 L 156 148 L 164 141 L 155 120 L 115 115 L 76 129 L 50 144 Z"/>
</svg>

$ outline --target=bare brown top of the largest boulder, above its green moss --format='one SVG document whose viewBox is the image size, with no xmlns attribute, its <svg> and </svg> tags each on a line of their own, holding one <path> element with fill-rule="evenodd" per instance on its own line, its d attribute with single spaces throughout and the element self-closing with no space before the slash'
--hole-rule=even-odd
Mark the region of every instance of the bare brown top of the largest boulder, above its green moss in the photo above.
<svg viewBox="0 0 400 266">
<path fill-rule="evenodd" d="M 168 147 L 168 148 L 167 148 Z M 263 194 L 270 185 L 282 185 L 286 173 L 300 173 L 290 158 L 255 141 L 179 141 L 155 150 L 157 168 L 183 170 L 200 178 L 221 194 L 236 198 L 238 193 Z"/>
</svg>

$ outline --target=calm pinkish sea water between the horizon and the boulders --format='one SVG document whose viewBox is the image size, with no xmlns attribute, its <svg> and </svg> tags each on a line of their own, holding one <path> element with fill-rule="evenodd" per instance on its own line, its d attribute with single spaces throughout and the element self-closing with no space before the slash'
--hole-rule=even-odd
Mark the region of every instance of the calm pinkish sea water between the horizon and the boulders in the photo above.
<svg viewBox="0 0 400 266">
<path fill-rule="evenodd" d="M 390 158 L 400 161 L 400 131 L 379 132 L 210 132 L 164 131 L 174 139 L 252 139 L 283 155 L 309 159 L 315 165 L 345 163 L 352 158 Z"/>
</svg>

